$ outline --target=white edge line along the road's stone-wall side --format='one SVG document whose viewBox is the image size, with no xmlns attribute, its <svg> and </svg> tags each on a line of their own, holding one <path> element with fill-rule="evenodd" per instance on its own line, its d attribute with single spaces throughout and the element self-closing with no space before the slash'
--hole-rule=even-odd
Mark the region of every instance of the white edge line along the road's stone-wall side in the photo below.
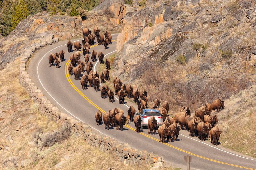
<svg viewBox="0 0 256 170">
<path fill-rule="evenodd" d="M 115 35 L 115 34 L 112 34 L 112 35 Z M 81 40 L 83 40 L 83 39 L 81 39 Z M 81 40 L 77 40 L 77 41 L 81 41 Z M 72 41 L 72 42 L 76 42 L 76 41 Z M 66 44 L 63 44 L 63 45 L 66 45 Z M 57 49 L 57 48 L 59 48 L 59 47 L 61 47 L 61 46 L 63 46 L 63 45 L 57 46 L 57 47 L 55 47 L 54 49 Z M 52 50 L 54 50 L 54 49 L 52 49 Z M 52 50 L 48 51 L 48 53 L 51 52 Z M 47 53 L 46 53 L 46 54 L 47 54 Z M 59 106 L 61 106 L 61 108 L 63 108 L 67 113 L 69 113 L 70 115 L 72 115 L 73 117 L 75 117 L 76 119 L 78 119 L 79 121 L 85 123 L 84 121 L 82 121 L 81 119 L 79 119 L 78 117 L 76 117 L 75 115 L 73 115 L 72 113 L 70 113 L 67 109 L 65 109 L 59 102 L 57 102 L 57 100 L 54 99 L 54 97 L 53 97 L 53 96 L 45 89 L 45 87 L 43 86 L 43 83 L 41 82 L 41 79 L 40 79 L 40 77 L 39 77 L 38 67 L 39 67 L 40 62 L 41 62 L 41 61 L 43 60 L 43 58 L 46 56 L 46 54 L 44 54 L 44 56 L 41 58 L 41 60 L 38 62 L 38 65 L 37 65 L 37 76 L 38 76 L 39 82 L 41 83 L 41 85 L 42 85 L 42 87 L 44 88 L 44 90 L 48 93 L 48 95 L 50 95 L 50 96 L 52 97 L 52 99 L 53 99 Z M 94 129 L 94 130 L 97 130 L 97 129 L 95 129 L 95 128 L 92 127 L 92 126 L 90 126 L 90 127 L 91 127 L 92 129 Z M 101 134 L 104 134 L 104 133 L 102 133 L 102 132 L 99 131 L 99 130 L 97 130 L 97 131 L 100 132 Z M 106 134 L 104 134 L 104 135 L 110 137 L 109 135 L 106 135 Z M 114 139 L 114 138 L 112 138 L 112 137 L 110 137 L 110 138 L 111 138 L 111 139 Z"/>
</svg>

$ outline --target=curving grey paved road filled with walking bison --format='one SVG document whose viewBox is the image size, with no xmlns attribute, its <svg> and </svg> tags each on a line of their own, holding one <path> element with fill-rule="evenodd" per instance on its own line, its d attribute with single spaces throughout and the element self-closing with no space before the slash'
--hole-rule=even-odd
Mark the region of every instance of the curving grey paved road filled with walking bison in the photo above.
<svg viewBox="0 0 256 170">
<path fill-rule="evenodd" d="M 112 40 L 116 38 L 117 35 L 113 35 Z M 77 40 L 81 42 L 81 39 L 73 41 Z M 190 164 L 191 169 L 256 169 L 255 159 L 234 151 L 231 151 L 235 153 L 232 154 L 220 145 L 213 146 L 209 141 L 200 141 L 197 137 L 192 138 L 184 130 L 180 131 L 177 141 L 163 144 L 159 143 L 159 135 L 148 135 L 147 129 L 141 130 L 142 133 L 140 134 L 134 132 L 133 122 L 126 125 L 124 131 L 105 130 L 104 125 L 97 126 L 94 115 L 99 109 L 108 111 L 119 107 L 127 115 L 127 106 L 133 105 L 137 108 L 136 104 L 129 101 L 125 102 L 125 105 L 119 104 L 117 99 L 115 99 L 114 103 L 110 103 L 108 98 L 101 99 L 100 91 L 95 92 L 93 87 L 81 90 L 80 80 L 75 80 L 74 75 L 69 76 L 67 70 L 65 70 L 65 66 L 68 65 L 67 62 L 70 62 L 70 54 L 74 53 L 74 51 L 68 53 L 66 43 L 67 41 L 60 41 L 57 44 L 39 50 L 34 54 L 27 69 L 35 85 L 42 90 L 48 100 L 63 112 L 73 115 L 84 123 L 88 123 L 94 130 L 102 134 L 115 138 L 120 142 L 128 143 L 133 148 L 162 155 L 164 160 L 174 167 L 185 169 L 186 163 L 183 156 L 189 154 L 193 157 L 193 162 Z M 97 45 L 96 42 L 95 45 L 90 51 L 93 49 L 97 53 L 102 51 L 106 57 L 115 53 L 116 50 L 116 41 L 113 41 L 106 50 L 103 45 Z M 49 54 L 60 50 L 65 51 L 65 61 L 61 62 L 59 69 L 56 69 L 55 66 L 49 67 Z M 93 62 L 93 65 L 95 65 L 95 62 Z M 96 70 L 98 66 L 99 63 L 95 66 Z"/>
</svg>

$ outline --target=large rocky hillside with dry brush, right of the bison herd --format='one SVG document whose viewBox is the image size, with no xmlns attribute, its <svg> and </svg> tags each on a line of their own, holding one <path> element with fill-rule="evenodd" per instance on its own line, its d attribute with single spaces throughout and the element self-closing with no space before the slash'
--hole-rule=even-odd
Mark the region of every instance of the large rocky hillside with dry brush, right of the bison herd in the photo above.
<svg viewBox="0 0 256 170">
<path fill-rule="evenodd" d="M 194 110 L 255 83 L 255 1 L 133 2 L 113 75 L 149 91 L 149 100 Z"/>
</svg>

